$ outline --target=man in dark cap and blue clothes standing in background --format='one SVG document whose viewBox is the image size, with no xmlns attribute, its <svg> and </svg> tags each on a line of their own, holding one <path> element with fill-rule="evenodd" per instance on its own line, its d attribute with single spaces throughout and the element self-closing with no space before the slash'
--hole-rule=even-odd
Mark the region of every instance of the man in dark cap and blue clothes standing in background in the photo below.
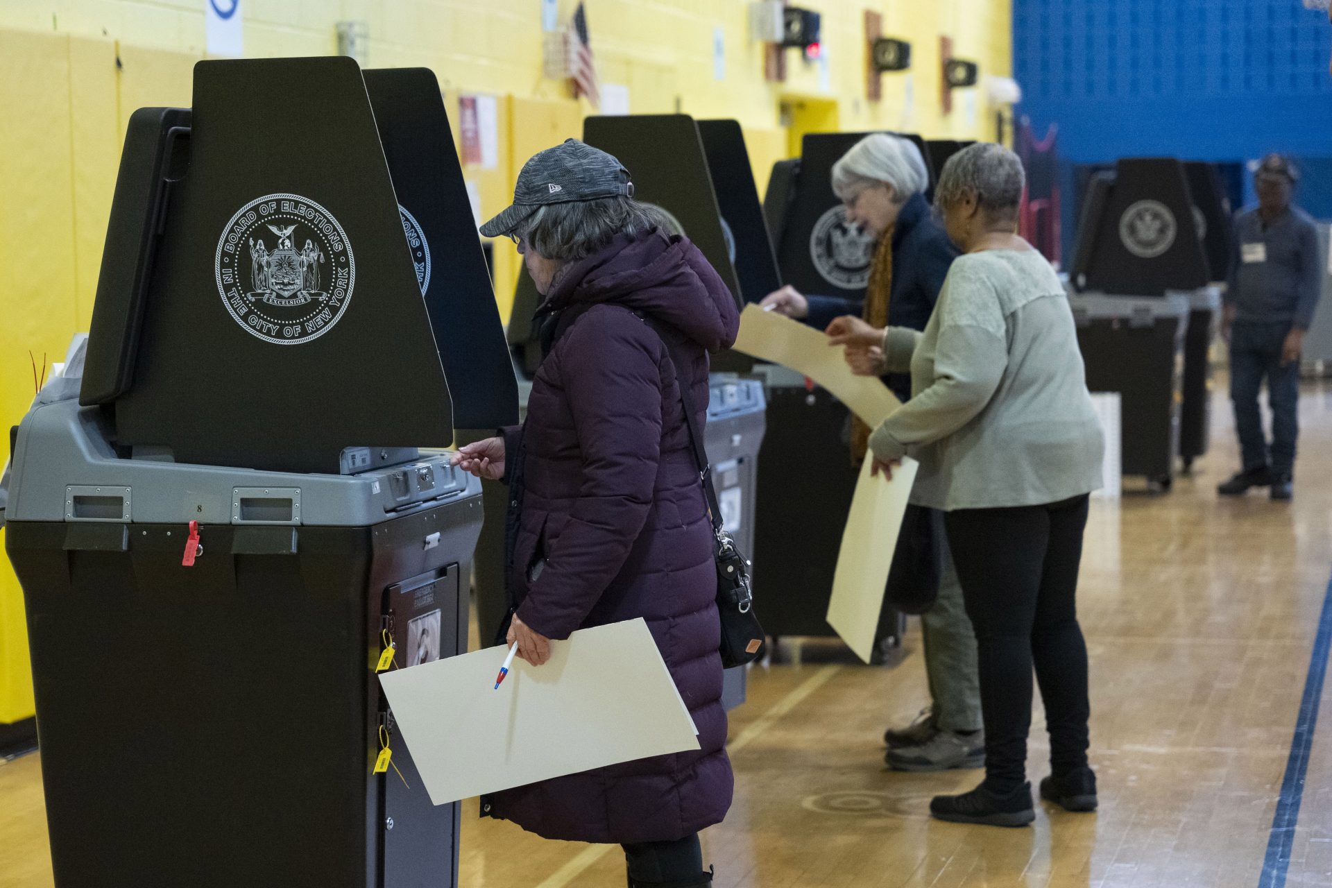
<svg viewBox="0 0 1332 888">
<path fill-rule="evenodd" d="M 1280 154 L 1257 165 L 1257 206 L 1235 218 L 1235 244 L 1225 293 L 1224 333 L 1231 343 L 1231 401 L 1243 470 L 1220 485 L 1223 497 L 1269 487 L 1289 499 L 1295 478 L 1300 349 L 1319 302 L 1321 264 L 1317 228 L 1291 204 L 1299 173 Z M 1263 431 L 1257 395 L 1267 378 L 1272 442 Z"/>
</svg>

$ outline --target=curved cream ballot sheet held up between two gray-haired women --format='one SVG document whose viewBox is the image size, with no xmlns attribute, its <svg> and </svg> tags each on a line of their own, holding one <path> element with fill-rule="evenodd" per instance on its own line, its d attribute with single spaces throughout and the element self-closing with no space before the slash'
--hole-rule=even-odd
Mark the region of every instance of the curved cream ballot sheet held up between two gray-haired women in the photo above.
<svg viewBox="0 0 1332 888">
<path fill-rule="evenodd" d="M 777 312 L 745 306 L 735 350 L 803 373 L 836 395 L 871 429 L 902 406 L 878 379 L 852 374 L 842 349 L 830 346 L 822 332 Z"/>
</svg>

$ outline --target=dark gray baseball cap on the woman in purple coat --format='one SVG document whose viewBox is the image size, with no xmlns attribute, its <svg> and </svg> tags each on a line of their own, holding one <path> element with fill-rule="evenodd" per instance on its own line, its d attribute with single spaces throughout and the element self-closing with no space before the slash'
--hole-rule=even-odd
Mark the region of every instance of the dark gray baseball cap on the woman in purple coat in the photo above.
<svg viewBox="0 0 1332 888">
<path fill-rule="evenodd" d="M 481 226 L 485 237 L 501 237 L 550 204 L 591 201 L 598 197 L 633 197 L 634 184 L 618 160 L 569 138 L 537 152 L 522 165 L 513 188 L 513 205 Z"/>
</svg>

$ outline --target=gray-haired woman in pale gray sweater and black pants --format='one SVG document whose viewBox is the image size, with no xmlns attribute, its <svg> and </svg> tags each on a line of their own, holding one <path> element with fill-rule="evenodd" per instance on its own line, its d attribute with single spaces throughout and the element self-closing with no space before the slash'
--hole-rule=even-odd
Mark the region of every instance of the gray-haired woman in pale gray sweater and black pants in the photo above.
<svg viewBox="0 0 1332 888">
<path fill-rule="evenodd" d="M 878 370 L 911 370 L 915 397 L 870 447 L 890 474 L 907 453 L 919 459 L 911 499 L 944 511 L 976 631 L 986 779 L 935 797 L 930 811 L 1000 827 L 1035 819 L 1026 777 L 1032 668 L 1050 731 L 1040 795 L 1068 811 L 1096 808 L 1075 595 L 1103 441 L 1063 285 L 1016 234 L 1023 185 L 1022 161 L 1002 145 L 955 154 L 935 205 L 963 256 L 924 333 L 890 328 L 876 341 L 856 322 L 835 337 L 872 346 Z"/>
</svg>

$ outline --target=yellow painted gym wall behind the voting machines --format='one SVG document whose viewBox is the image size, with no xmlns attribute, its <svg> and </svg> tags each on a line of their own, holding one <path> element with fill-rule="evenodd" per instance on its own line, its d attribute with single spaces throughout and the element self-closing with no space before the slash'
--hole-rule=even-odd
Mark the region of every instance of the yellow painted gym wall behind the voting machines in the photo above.
<svg viewBox="0 0 1332 888">
<path fill-rule="evenodd" d="M 559 0 L 561 23 L 575 5 Z M 819 120 L 842 129 L 992 134 L 994 109 L 983 96 L 959 96 L 952 114 L 942 113 L 939 36 L 951 36 L 955 55 L 984 73 L 1008 76 L 1010 0 L 801 5 L 823 13 L 826 61 L 787 51 L 789 79 L 771 84 L 762 47 L 749 39 L 745 0 L 586 0 L 602 83 L 629 87 L 634 113 L 739 120 L 761 190 L 789 150 L 783 101 L 825 103 Z M 883 15 L 886 36 L 912 43 L 914 71 L 884 75 L 876 103 L 864 99 L 866 9 Z M 205 55 L 202 11 L 202 0 L 0 0 L 0 429 L 17 423 L 32 398 L 28 351 L 56 361 L 88 326 L 125 122 L 144 105 L 189 104 L 190 69 Z M 485 216 L 506 205 L 527 156 L 577 136 L 589 113 L 563 81 L 542 77 L 539 0 L 241 0 L 241 11 L 248 56 L 332 53 L 334 23 L 364 21 L 366 64 L 434 69 L 450 114 L 460 95 L 496 96 L 500 162 L 465 169 Z M 717 28 L 726 48 L 722 80 L 713 65 Z M 518 270 L 513 246 L 497 242 L 505 313 Z M 8 435 L 0 435 L 5 458 Z M 5 564 L 0 723 L 31 714 L 23 603 Z"/>
</svg>

